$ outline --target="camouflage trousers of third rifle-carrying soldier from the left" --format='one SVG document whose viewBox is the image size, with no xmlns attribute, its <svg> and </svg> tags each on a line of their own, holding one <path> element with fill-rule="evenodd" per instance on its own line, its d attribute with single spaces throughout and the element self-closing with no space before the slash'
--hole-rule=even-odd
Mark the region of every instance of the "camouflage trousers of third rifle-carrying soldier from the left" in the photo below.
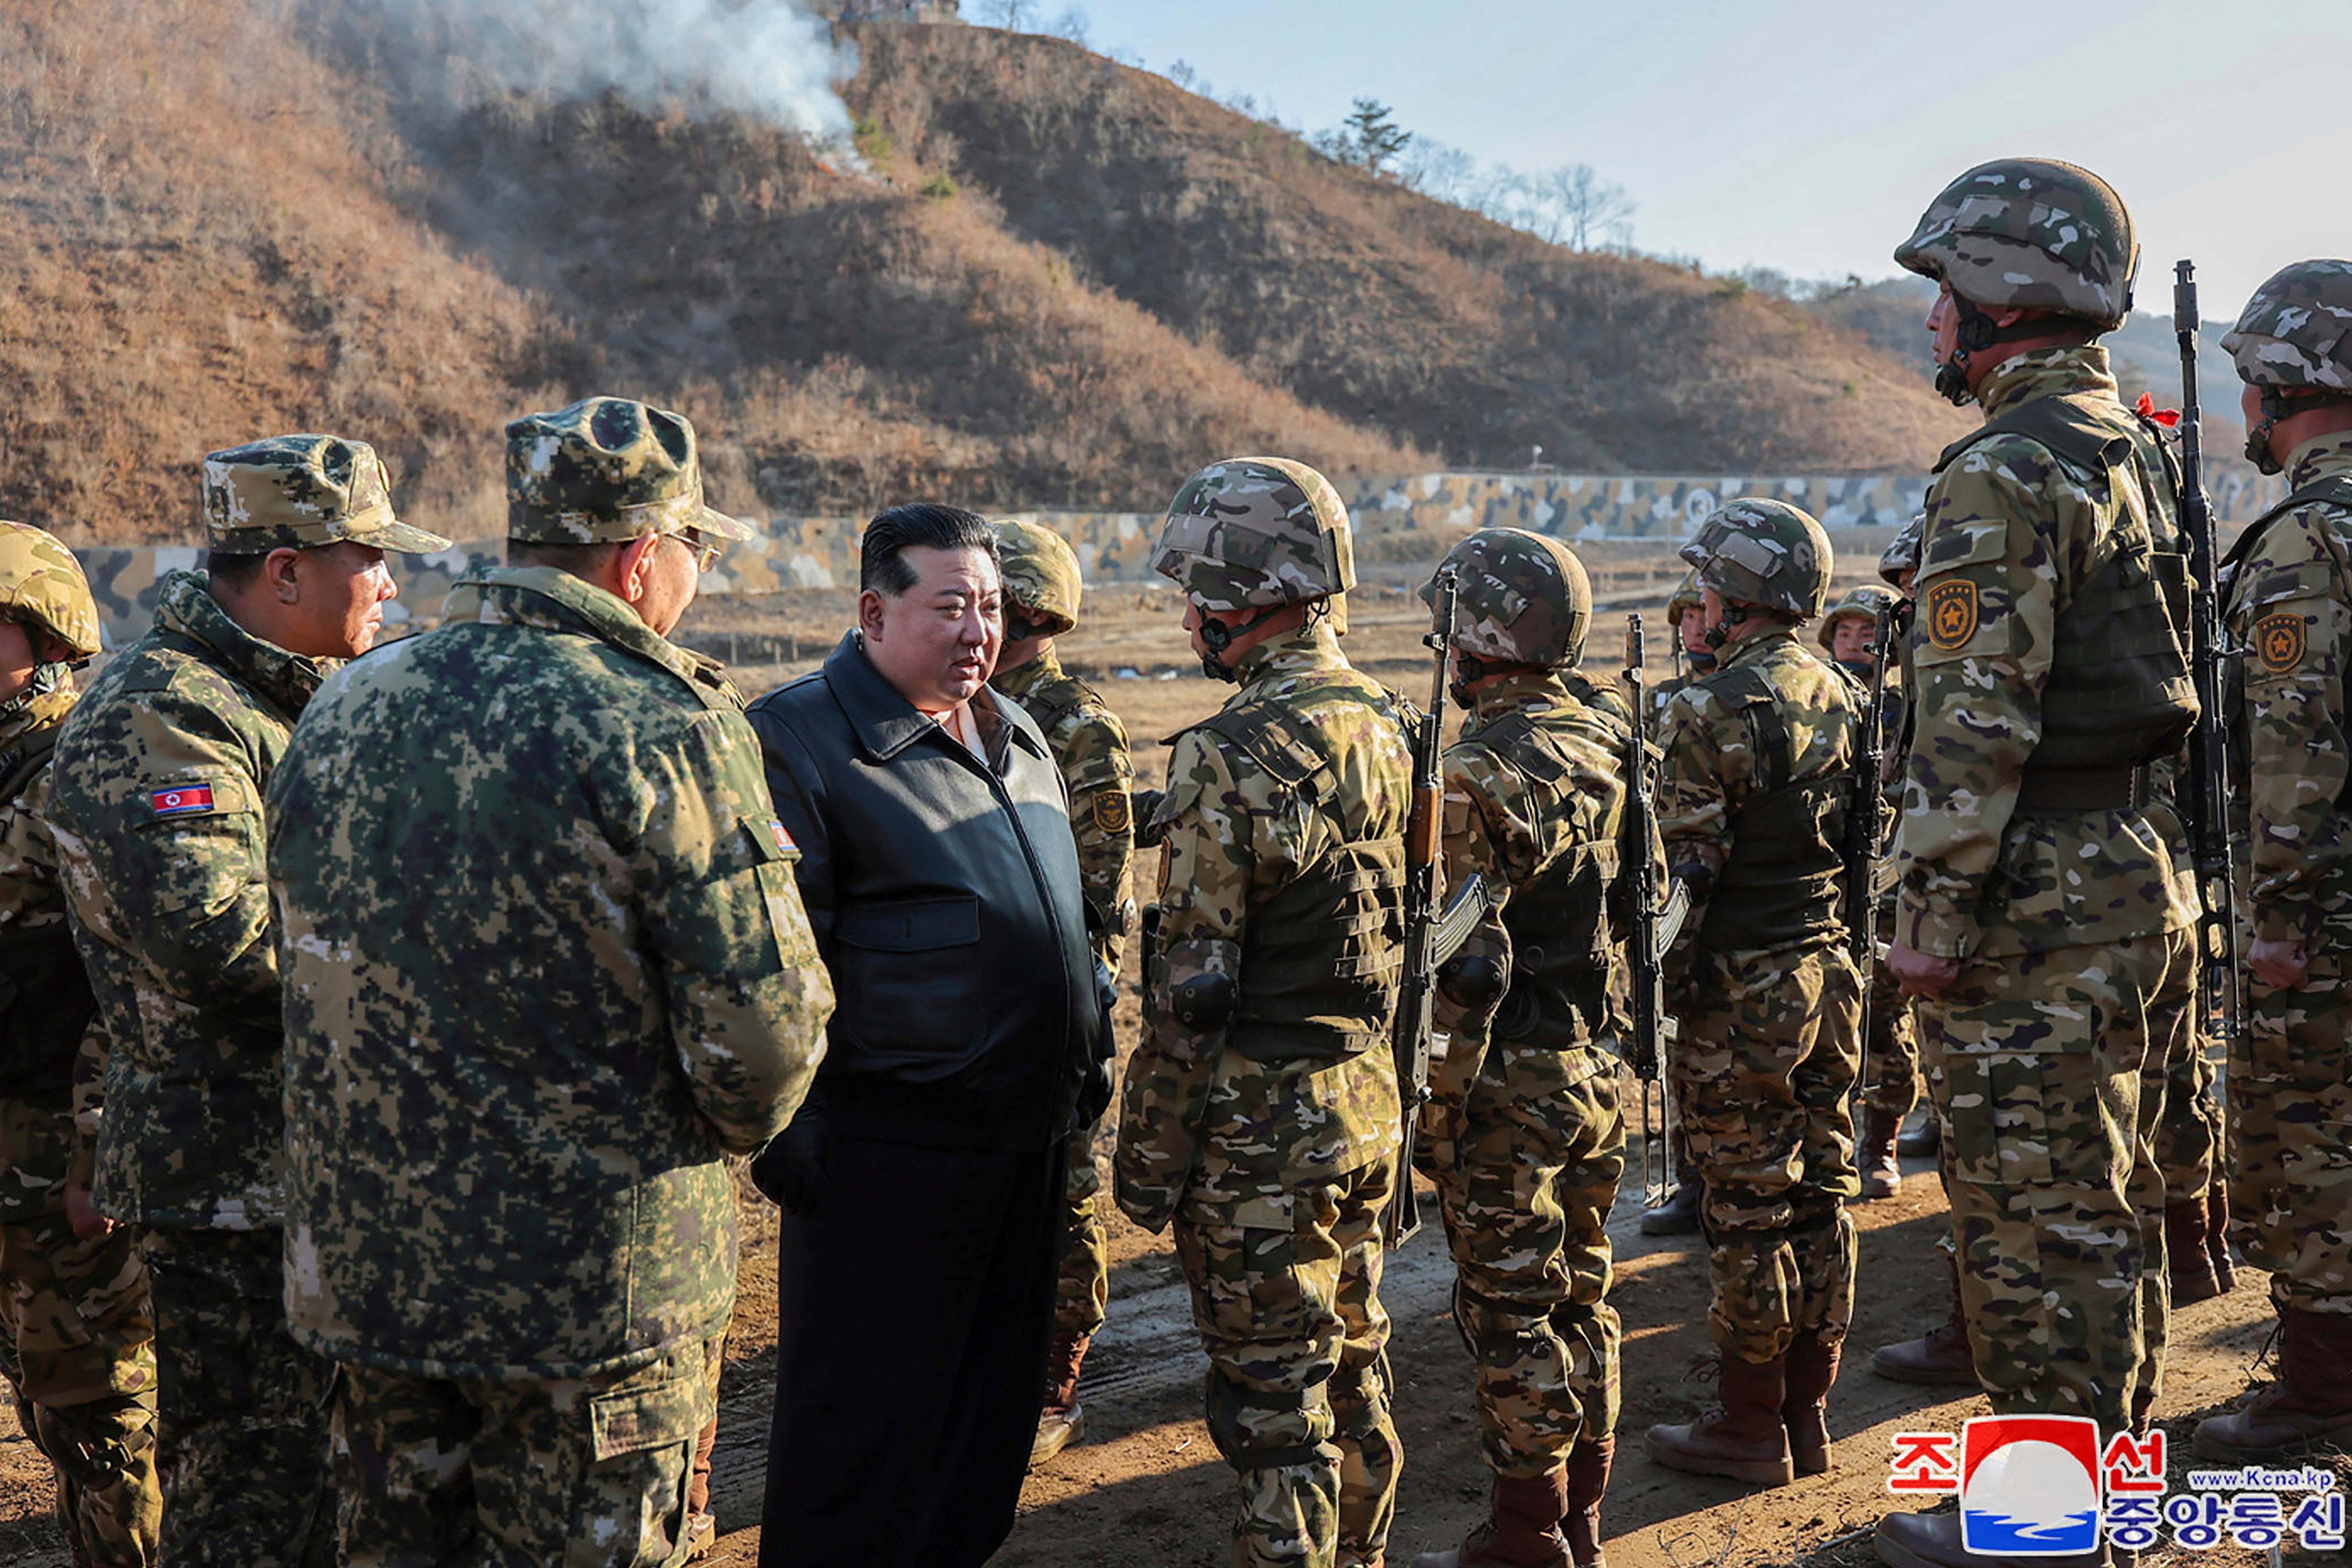
<svg viewBox="0 0 2352 1568">
<path fill-rule="evenodd" d="M 1853 1321 L 1860 1192 L 1849 1095 L 1863 978 L 1844 947 L 1700 954 L 1675 1041 L 1675 1103 L 1705 1178 L 1715 1345 L 1771 1361 Z"/>
</svg>

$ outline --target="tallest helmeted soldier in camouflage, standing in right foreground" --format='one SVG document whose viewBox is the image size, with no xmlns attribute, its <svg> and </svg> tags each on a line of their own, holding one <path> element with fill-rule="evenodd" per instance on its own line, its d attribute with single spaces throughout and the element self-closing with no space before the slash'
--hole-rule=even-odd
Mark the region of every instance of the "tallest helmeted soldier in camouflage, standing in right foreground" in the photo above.
<svg viewBox="0 0 2352 1568">
<path fill-rule="evenodd" d="M 1994 1413 L 2117 1432 L 2164 1342 L 2143 1072 L 2192 922 L 2147 766 L 2197 712 L 2169 454 L 2093 346 L 2138 244 L 2096 174 L 2004 160 L 1896 261 L 1940 284 L 1936 383 L 1985 425 L 1929 489 L 1889 966 L 1938 1067 L 1978 1380 Z M 1952 1514 L 1891 1514 L 1877 1549 L 1971 1561 Z"/>
</svg>

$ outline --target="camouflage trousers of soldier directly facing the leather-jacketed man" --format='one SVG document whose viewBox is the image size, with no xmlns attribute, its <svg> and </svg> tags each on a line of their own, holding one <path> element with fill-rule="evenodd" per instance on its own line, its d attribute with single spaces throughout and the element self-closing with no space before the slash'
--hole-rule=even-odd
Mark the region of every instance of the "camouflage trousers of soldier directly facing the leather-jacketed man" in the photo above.
<svg viewBox="0 0 2352 1568">
<path fill-rule="evenodd" d="M 1404 1446 L 1388 1413 L 1381 1161 L 1242 1204 L 1176 1211 L 1209 1352 L 1209 1436 L 1240 1476 L 1237 1568 L 1376 1563 Z"/>
</svg>

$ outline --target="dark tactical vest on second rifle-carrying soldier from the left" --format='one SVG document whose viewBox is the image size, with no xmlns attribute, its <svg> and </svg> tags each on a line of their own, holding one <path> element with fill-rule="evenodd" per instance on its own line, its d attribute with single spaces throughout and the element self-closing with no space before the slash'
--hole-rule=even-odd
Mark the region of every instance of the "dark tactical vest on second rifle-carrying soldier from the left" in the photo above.
<svg viewBox="0 0 2352 1568">
<path fill-rule="evenodd" d="M 1578 788 L 1576 759 L 1531 712 L 1496 719 L 1475 743 L 1526 778 L 1536 820 L 1576 823 L 1576 842 L 1526 886 L 1512 889 L 1503 905 L 1510 994 L 1496 1013 L 1494 1034 L 1552 1051 L 1590 1046 L 1609 1023 L 1609 971 L 1616 961 L 1609 917 L 1618 907 L 1618 823 L 1611 818 L 1623 816 L 1623 790 L 1616 799 L 1595 799 Z"/>
</svg>

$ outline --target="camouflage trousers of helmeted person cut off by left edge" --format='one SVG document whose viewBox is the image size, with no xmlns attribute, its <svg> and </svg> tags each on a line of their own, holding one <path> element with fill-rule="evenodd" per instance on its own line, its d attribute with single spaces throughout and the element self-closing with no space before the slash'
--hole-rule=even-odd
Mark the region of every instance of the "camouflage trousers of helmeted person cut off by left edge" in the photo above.
<svg viewBox="0 0 2352 1568">
<path fill-rule="evenodd" d="M 155 1314 L 129 1227 L 82 1241 L 52 1213 L 0 1225 L 0 1373 L 56 1469 L 75 1561 L 148 1568 L 155 1479 Z"/>
</svg>

